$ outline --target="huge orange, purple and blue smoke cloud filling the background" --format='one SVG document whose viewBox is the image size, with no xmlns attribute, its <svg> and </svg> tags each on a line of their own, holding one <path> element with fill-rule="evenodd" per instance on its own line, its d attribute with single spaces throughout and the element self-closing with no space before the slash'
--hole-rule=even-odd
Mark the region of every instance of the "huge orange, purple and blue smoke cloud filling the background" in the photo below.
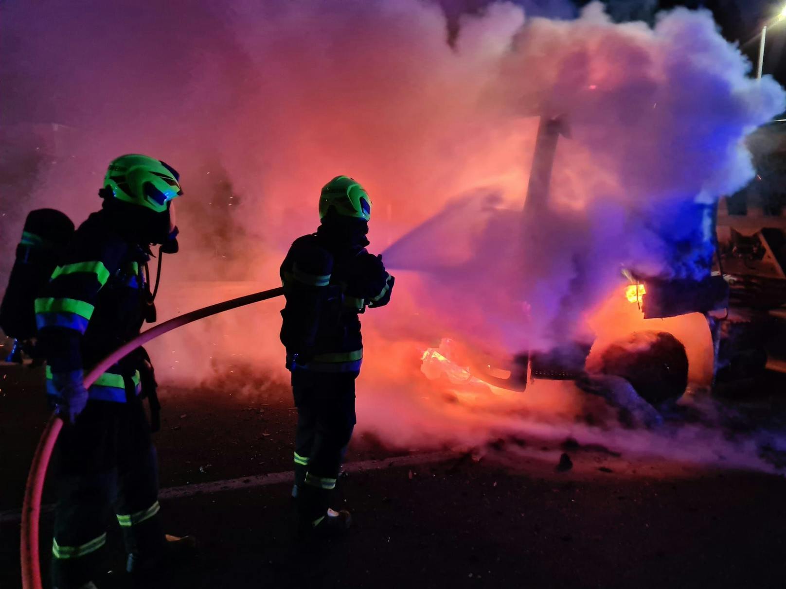
<svg viewBox="0 0 786 589">
<path fill-rule="evenodd" d="M 585 334 L 622 265 L 692 276 L 707 228 L 680 220 L 751 177 L 740 141 L 784 93 L 747 78 L 708 13 L 677 10 L 651 29 L 612 24 L 598 4 L 578 20 L 483 4 L 460 16 L 456 3 L 420 0 L 5 3 L 6 247 L 33 207 L 76 221 L 97 208 L 116 155 L 160 157 L 185 187 L 182 253 L 164 262 L 160 294 L 171 316 L 276 286 L 286 247 L 318 222 L 321 185 L 351 174 L 374 201 L 373 251 L 430 228 L 387 256 L 428 271 L 400 273 L 394 304 L 364 320 L 373 393 L 361 422 L 401 440 L 427 423 L 487 432 L 485 419 L 438 419 L 417 401 L 431 386 L 426 342 L 546 347 Z M 563 115 L 571 138 L 558 145 L 552 206 L 524 230 L 539 115 Z M 160 375 L 251 364 L 284 379 L 278 308 L 167 337 L 154 349 Z"/>
</svg>

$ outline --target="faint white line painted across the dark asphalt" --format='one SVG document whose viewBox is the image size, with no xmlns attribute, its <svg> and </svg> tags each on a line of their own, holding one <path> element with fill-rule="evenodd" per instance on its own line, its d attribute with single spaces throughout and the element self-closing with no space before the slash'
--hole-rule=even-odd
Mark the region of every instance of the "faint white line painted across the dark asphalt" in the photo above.
<svg viewBox="0 0 786 589">
<path fill-rule="evenodd" d="M 417 466 L 418 464 L 440 463 L 450 458 L 455 458 L 455 452 L 431 452 L 429 454 L 411 454 L 406 456 L 394 456 L 381 460 L 363 460 L 358 463 L 347 463 L 342 469 L 348 473 L 358 473 L 365 470 L 383 470 L 395 466 Z M 208 495 L 222 491 L 237 491 L 242 488 L 264 487 L 266 485 L 279 485 L 281 483 L 292 482 L 292 470 L 283 473 L 259 474 L 254 477 L 230 478 L 226 481 L 211 481 L 207 483 L 196 483 L 195 485 L 183 485 L 182 487 L 162 488 L 159 492 L 159 499 L 179 499 L 181 497 L 191 497 L 194 495 Z M 54 510 L 54 505 L 42 505 L 41 513 L 47 514 Z M 0 511 L 0 524 L 19 523 L 22 519 L 19 510 Z"/>
</svg>

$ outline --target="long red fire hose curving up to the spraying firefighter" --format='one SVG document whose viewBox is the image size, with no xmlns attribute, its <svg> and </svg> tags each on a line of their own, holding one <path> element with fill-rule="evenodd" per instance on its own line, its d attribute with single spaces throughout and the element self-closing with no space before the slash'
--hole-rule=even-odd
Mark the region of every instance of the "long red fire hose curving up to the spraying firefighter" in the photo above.
<svg viewBox="0 0 786 589">
<path fill-rule="evenodd" d="M 134 349 L 137 349 L 139 346 L 145 345 L 145 343 L 157 338 L 159 335 L 167 333 L 167 331 L 172 331 L 185 324 L 193 323 L 193 321 L 223 313 L 230 309 L 237 309 L 237 307 L 242 307 L 244 305 L 266 301 L 269 298 L 276 298 L 281 296 L 281 294 L 284 294 L 284 289 L 282 287 L 271 288 L 269 291 L 248 294 L 244 297 L 219 302 L 215 305 L 204 307 L 203 309 L 196 309 L 196 311 L 185 313 L 185 315 L 174 317 L 155 327 L 151 327 L 149 330 L 143 331 L 130 342 L 120 346 L 113 353 L 105 357 L 104 360 L 96 364 L 96 366 L 85 376 L 85 387 L 89 388 L 100 375 L 112 366 L 112 364 L 116 364 L 118 360 L 125 357 L 128 353 L 134 351 Z M 24 587 L 24 589 L 42 589 L 41 562 L 39 560 L 41 496 L 44 488 L 44 478 L 46 477 L 46 468 L 49 466 L 54 444 L 57 441 L 57 435 L 60 434 L 62 427 L 63 419 L 57 415 L 57 412 L 54 412 L 49 422 L 46 423 L 46 428 L 43 434 L 41 434 L 38 447 L 35 448 L 35 455 L 33 456 L 30 473 L 28 474 L 28 483 L 24 488 L 20 546 L 22 587 Z"/>
</svg>

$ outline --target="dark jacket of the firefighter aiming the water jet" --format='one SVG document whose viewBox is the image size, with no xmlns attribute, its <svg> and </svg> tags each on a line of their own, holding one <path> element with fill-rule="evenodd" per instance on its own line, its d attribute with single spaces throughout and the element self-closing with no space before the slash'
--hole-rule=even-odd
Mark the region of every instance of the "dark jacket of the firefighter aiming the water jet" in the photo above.
<svg viewBox="0 0 786 589">
<path fill-rule="evenodd" d="M 365 231 L 353 235 L 343 225 L 321 225 L 289 248 L 281 264 L 286 298 L 281 342 L 288 368 L 360 371 L 358 314 L 366 306 L 387 305 L 394 283 L 381 256 L 365 250 Z"/>
</svg>

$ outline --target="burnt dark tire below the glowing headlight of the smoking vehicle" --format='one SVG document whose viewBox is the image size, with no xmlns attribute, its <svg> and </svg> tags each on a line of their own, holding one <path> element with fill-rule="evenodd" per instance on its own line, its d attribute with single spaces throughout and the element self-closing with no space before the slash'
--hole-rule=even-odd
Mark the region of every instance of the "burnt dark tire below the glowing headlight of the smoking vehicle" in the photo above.
<svg viewBox="0 0 786 589">
<path fill-rule="evenodd" d="M 685 346 L 665 331 L 634 331 L 601 354 L 601 372 L 620 376 L 652 405 L 675 399 L 688 386 Z"/>
</svg>

